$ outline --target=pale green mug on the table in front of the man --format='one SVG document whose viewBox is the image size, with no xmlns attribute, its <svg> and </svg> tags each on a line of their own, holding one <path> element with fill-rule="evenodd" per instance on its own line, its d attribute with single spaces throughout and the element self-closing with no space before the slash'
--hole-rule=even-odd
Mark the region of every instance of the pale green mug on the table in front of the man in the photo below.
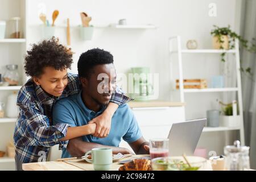
<svg viewBox="0 0 256 182">
<path fill-rule="evenodd" d="M 92 159 L 87 156 L 92 154 Z M 93 164 L 95 171 L 108 171 L 113 162 L 111 148 L 93 148 L 85 153 L 85 160 Z"/>
</svg>

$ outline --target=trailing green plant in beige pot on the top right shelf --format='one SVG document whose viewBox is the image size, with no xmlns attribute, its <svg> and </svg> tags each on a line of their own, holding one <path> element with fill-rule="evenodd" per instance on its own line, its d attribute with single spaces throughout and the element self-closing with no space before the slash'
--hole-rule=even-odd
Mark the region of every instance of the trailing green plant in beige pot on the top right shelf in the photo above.
<svg viewBox="0 0 256 182">
<path fill-rule="evenodd" d="M 218 27 L 216 25 L 213 26 L 214 29 L 210 32 L 213 36 L 213 48 L 214 49 L 234 49 L 235 40 L 238 39 L 240 45 L 245 48 L 247 51 L 256 53 L 256 40 L 253 38 L 250 42 L 248 40 L 243 39 L 240 35 L 230 29 L 228 27 Z M 221 53 L 221 61 L 225 62 L 225 52 Z M 241 71 L 244 71 L 241 68 Z M 251 69 L 246 68 L 245 71 L 251 74 Z"/>
</svg>

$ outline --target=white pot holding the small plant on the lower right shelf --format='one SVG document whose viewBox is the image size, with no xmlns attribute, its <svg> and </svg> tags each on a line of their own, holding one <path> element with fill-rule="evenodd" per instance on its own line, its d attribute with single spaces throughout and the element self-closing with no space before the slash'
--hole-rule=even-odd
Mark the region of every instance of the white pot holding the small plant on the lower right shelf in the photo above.
<svg viewBox="0 0 256 182">
<path fill-rule="evenodd" d="M 241 125 L 242 118 L 240 115 L 220 115 L 220 126 L 238 127 Z"/>
</svg>

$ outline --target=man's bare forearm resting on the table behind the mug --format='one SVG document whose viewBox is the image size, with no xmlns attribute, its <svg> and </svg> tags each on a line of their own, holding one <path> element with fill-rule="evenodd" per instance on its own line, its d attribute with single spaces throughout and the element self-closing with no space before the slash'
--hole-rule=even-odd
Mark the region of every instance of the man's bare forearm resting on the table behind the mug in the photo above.
<svg viewBox="0 0 256 182">
<path fill-rule="evenodd" d="M 85 154 L 85 152 L 92 150 L 92 148 L 98 147 L 112 148 L 113 154 L 117 154 L 118 152 L 121 152 L 122 154 L 133 154 L 133 152 L 129 151 L 127 148 L 84 142 L 81 137 L 69 140 L 67 150 L 73 157 L 81 157 Z"/>
</svg>

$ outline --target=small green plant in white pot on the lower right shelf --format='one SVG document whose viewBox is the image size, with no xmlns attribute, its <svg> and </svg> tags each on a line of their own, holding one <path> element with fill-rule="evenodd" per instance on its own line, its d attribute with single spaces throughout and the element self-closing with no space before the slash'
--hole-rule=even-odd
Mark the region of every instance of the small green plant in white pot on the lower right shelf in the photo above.
<svg viewBox="0 0 256 182">
<path fill-rule="evenodd" d="M 219 102 L 222 106 L 222 114 L 220 115 L 220 126 L 224 127 L 236 127 L 241 124 L 241 115 L 239 115 L 239 110 L 237 107 L 237 101 L 233 101 L 229 104 L 224 104 Z M 236 110 L 233 112 L 233 110 Z"/>
</svg>

